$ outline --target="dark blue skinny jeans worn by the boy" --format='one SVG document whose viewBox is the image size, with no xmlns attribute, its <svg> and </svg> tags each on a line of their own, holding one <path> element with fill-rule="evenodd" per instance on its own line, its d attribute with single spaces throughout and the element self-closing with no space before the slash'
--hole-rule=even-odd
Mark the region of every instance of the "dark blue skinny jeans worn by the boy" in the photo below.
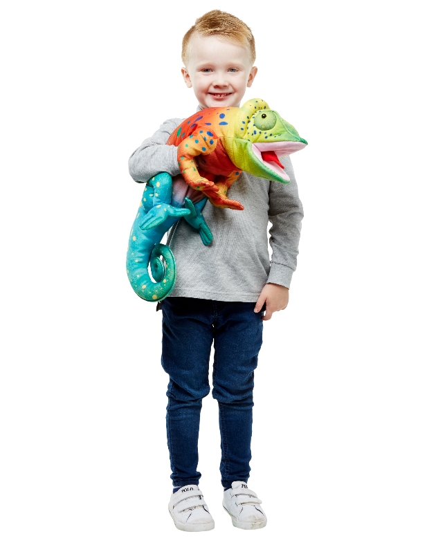
<svg viewBox="0 0 436 545">
<path fill-rule="evenodd" d="M 161 305 L 162 367 L 167 389 L 167 443 L 173 486 L 198 484 L 201 400 L 210 391 L 209 358 L 214 345 L 212 397 L 218 401 L 221 483 L 250 475 L 254 370 L 262 345 L 262 313 L 255 303 L 167 297 Z"/>
</svg>

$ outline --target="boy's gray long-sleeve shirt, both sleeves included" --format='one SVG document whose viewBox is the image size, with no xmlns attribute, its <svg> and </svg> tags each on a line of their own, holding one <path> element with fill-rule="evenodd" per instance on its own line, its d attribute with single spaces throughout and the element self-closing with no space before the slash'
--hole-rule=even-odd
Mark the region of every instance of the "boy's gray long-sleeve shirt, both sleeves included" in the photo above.
<svg viewBox="0 0 436 545">
<path fill-rule="evenodd" d="M 129 173 L 146 182 L 158 172 L 180 174 L 177 148 L 166 142 L 181 119 L 165 121 L 129 158 Z M 303 210 L 289 156 L 280 159 L 291 182 L 270 182 L 244 172 L 230 187 L 229 198 L 244 210 L 217 208 L 207 202 L 203 216 L 213 234 L 204 246 L 183 219 L 170 230 L 168 243 L 177 264 L 171 296 L 216 301 L 256 302 L 267 282 L 289 288 L 297 267 Z M 268 222 L 272 227 L 270 263 Z"/>
</svg>

